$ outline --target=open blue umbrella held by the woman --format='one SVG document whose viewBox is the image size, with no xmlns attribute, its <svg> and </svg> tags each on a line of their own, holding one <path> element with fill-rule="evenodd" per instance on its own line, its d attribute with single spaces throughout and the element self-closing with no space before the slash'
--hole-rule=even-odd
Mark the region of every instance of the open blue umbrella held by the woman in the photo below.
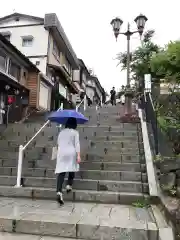
<svg viewBox="0 0 180 240">
<path fill-rule="evenodd" d="M 68 118 L 75 118 L 77 124 L 84 124 L 88 121 L 88 119 L 83 114 L 75 110 L 60 110 L 52 112 L 48 117 L 51 122 L 56 122 L 59 124 L 66 124 Z"/>
</svg>

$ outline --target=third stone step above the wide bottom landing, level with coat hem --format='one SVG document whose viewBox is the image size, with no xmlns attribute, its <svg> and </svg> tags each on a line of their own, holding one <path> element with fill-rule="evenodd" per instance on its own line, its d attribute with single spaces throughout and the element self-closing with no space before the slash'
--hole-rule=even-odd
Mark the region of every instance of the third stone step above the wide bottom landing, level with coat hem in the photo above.
<svg viewBox="0 0 180 240">
<path fill-rule="evenodd" d="M 17 168 L 0 167 L 0 175 L 16 176 Z M 23 169 L 23 177 L 54 178 L 54 169 L 28 168 Z M 112 180 L 112 181 L 142 181 L 147 182 L 147 174 L 131 171 L 81 170 L 76 173 L 77 179 Z"/>
</svg>

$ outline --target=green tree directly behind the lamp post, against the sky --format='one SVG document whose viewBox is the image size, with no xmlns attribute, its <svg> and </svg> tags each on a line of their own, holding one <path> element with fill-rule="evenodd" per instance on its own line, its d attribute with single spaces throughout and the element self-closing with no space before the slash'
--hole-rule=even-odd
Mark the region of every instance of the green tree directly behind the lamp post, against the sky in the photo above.
<svg viewBox="0 0 180 240">
<path fill-rule="evenodd" d="M 130 71 L 133 74 L 133 78 L 138 80 L 143 78 L 144 74 L 151 72 L 150 62 L 154 54 L 160 51 L 157 44 L 153 43 L 152 38 L 154 36 L 154 30 L 149 30 L 144 33 L 141 40 L 141 46 L 130 53 Z M 121 52 L 117 54 L 118 65 L 122 70 L 127 67 L 127 52 Z"/>
</svg>

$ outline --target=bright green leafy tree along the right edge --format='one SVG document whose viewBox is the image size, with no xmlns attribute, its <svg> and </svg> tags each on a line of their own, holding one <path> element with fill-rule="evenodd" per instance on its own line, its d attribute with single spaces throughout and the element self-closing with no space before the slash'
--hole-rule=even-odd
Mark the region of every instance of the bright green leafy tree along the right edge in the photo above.
<svg viewBox="0 0 180 240">
<path fill-rule="evenodd" d="M 150 65 L 151 71 L 163 79 L 169 90 L 169 94 L 159 95 L 156 99 L 159 105 L 158 120 L 176 145 L 180 139 L 180 41 L 168 43 L 164 49 L 153 55 Z M 180 153 L 180 145 L 176 152 Z"/>
</svg>

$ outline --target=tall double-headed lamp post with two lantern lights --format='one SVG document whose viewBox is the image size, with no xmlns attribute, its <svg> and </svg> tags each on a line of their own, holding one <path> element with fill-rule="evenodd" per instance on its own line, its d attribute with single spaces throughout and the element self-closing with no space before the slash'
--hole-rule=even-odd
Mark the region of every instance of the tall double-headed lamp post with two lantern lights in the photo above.
<svg viewBox="0 0 180 240">
<path fill-rule="evenodd" d="M 147 17 L 143 14 L 140 14 L 139 16 L 137 16 L 134 21 L 137 24 L 137 30 L 136 31 L 131 31 L 130 30 L 130 24 L 128 23 L 127 25 L 127 31 L 126 32 L 120 32 L 120 28 L 121 25 L 123 24 L 123 21 L 120 18 L 114 18 L 111 21 L 111 25 L 113 27 L 113 32 L 114 32 L 114 36 L 117 38 L 118 36 L 121 35 L 125 35 L 127 38 L 127 86 L 126 86 L 126 92 L 125 92 L 125 96 L 126 96 L 126 114 L 131 114 L 132 113 L 132 103 L 131 103 L 131 99 L 132 99 L 132 91 L 131 91 L 131 87 L 130 87 L 130 39 L 131 36 L 134 33 L 139 33 L 140 37 L 143 34 L 144 31 L 144 27 L 145 27 L 145 23 L 147 21 Z"/>
</svg>

